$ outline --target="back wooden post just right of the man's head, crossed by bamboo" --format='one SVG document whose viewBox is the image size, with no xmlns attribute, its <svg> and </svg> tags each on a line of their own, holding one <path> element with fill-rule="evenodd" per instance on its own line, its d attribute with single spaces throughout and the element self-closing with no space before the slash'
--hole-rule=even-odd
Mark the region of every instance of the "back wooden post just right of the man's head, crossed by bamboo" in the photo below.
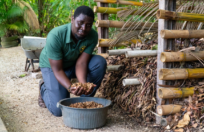
<svg viewBox="0 0 204 132">
<path fill-rule="evenodd" d="M 108 4 L 97 2 L 98 7 L 108 7 Z M 105 13 L 97 13 L 98 20 L 108 20 L 108 14 Z M 109 38 L 108 28 L 98 27 L 98 38 Z M 108 50 L 107 47 L 98 47 L 98 53 L 106 53 Z"/>
</svg>

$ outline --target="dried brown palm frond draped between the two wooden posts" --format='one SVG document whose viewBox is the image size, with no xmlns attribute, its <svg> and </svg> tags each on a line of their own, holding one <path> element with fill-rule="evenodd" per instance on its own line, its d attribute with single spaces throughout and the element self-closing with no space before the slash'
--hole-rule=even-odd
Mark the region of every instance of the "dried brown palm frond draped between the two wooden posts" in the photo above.
<svg viewBox="0 0 204 132">
<path fill-rule="evenodd" d="M 123 25 L 120 31 L 116 31 L 115 35 L 112 37 L 112 41 L 109 42 L 110 46 L 114 46 L 117 43 L 123 41 L 129 41 L 132 39 L 142 39 L 142 42 L 146 40 L 144 37 L 145 33 L 156 32 L 153 29 L 154 23 L 156 23 L 156 11 L 159 8 L 158 2 L 154 3 L 145 3 L 142 7 L 137 7 L 136 9 L 122 10 L 117 13 L 120 20 L 126 20 L 126 23 Z M 130 15 L 132 15 L 130 17 Z M 155 21 L 156 20 L 156 21 Z M 148 30 L 147 24 L 153 21 L 152 25 Z M 144 24 L 145 23 L 145 24 Z M 130 25 L 126 28 L 126 25 Z M 142 37 L 143 36 L 143 37 Z"/>
</svg>

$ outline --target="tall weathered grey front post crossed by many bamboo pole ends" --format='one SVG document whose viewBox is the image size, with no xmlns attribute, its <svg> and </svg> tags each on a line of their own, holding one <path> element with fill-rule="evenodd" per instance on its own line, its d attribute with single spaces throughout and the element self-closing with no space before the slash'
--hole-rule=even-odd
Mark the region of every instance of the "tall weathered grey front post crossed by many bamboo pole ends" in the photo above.
<svg viewBox="0 0 204 132">
<path fill-rule="evenodd" d="M 176 0 L 159 0 L 159 9 L 163 10 L 176 10 Z M 158 52 L 157 52 L 157 84 L 165 84 L 165 81 L 159 79 L 159 70 L 162 68 L 172 68 L 172 63 L 163 63 L 160 61 L 161 53 L 164 52 L 166 49 L 174 50 L 175 44 L 174 40 L 166 40 L 161 38 L 160 31 L 164 29 L 173 29 L 175 26 L 175 21 L 167 21 L 165 19 L 159 19 L 159 26 L 158 26 Z M 168 82 L 170 84 L 171 82 Z M 157 85 L 157 105 L 162 104 L 162 99 L 158 96 L 158 88 Z M 159 124 L 161 122 L 160 117 L 156 117 L 156 123 Z"/>
</svg>

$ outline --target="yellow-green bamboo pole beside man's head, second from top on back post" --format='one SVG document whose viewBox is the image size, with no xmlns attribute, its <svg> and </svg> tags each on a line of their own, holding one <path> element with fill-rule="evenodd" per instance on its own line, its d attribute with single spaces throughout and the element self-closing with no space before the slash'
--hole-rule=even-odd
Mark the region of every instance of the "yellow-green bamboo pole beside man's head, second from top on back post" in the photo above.
<svg viewBox="0 0 204 132">
<path fill-rule="evenodd" d="M 93 11 L 96 13 L 117 14 L 118 11 L 127 10 L 128 8 L 111 8 L 111 7 L 97 7 L 94 6 Z"/>
</svg>

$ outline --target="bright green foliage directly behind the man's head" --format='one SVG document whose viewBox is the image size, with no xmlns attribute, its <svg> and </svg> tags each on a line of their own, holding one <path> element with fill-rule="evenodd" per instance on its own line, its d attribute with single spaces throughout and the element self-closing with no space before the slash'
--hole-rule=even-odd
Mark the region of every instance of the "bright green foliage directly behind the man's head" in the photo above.
<svg viewBox="0 0 204 132">
<path fill-rule="evenodd" d="M 86 5 L 93 8 L 96 5 L 90 0 L 29 0 L 28 2 L 38 13 L 39 36 L 43 37 L 46 37 L 54 27 L 70 23 L 77 7 Z"/>
</svg>

